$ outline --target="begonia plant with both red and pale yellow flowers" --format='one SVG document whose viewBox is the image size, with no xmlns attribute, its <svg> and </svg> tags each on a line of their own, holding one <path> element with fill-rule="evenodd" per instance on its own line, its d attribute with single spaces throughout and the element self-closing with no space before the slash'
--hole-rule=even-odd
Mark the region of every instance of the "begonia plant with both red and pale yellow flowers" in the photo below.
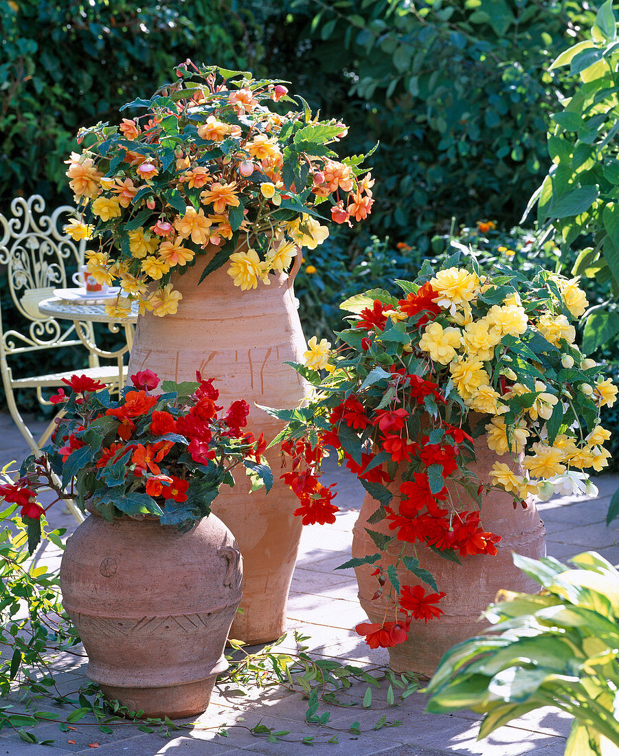
<svg viewBox="0 0 619 756">
<path fill-rule="evenodd" d="M 386 520 L 392 531 L 368 529 L 380 553 L 347 563 L 376 565 L 374 599 L 387 600 L 382 624 L 357 626 L 372 647 L 401 643 L 413 618 L 442 613 L 445 594 L 416 544 L 451 561 L 497 553 L 484 496 L 508 491 L 526 508 L 532 497 L 596 493 L 585 471 L 608 463 L 599 410 L 617 396 L 576 344 L 571 321 L 587 308 L 577 280 L 541 269 L 528 280 L 500 264 L 484 273 L 459 252 L 396 283 L 399 296 L 370 290 L 341 305 L 352 313 L 341 346 L 310 339 L 305 364 L 293 364 L 314 387 L 308 402 L 270 410 L 287 421 L 275 442 L 305 525 L 336 521 L 336 492 L 320 472 L 333 448 L 377 500 L 370 528 Z M 501 457 L 491 482 L 472 472 L 476 448 Z M 385 568 L 395 544 L 397 562 Z M 419 583 L 400 587 L 397 568 Z"/>
</svg>

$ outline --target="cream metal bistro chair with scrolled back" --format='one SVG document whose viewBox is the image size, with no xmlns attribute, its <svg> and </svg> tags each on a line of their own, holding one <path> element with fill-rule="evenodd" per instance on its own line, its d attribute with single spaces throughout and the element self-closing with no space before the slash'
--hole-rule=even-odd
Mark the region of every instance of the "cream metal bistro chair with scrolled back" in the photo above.
<svg viewBox="0 0 619 756">
<path fill-rule="evenodd" d="M 6 266 L 6 284 L 11 294 L 14 308 L 23 319 L 23 328 L 6 330 L 2 324 L 2 302 L 0 302 L 0 372 L 5 386 L 8 410 L 11 417 L 26 438 L 32 451 L 39 451 L 54 430 L 54 420 L 36 439 L 26 426 L 17 407 L 15 392 L 32 389 L 41 404 L 51 404 L 43 391 L 65 386 L 62 379 L 73 373 L 101 380 L 114 389 L 119 389 L 119 365 L 101 366 L 97 355 L 88 352 L 76 334 L 75 324 L 57 321 L 39 311 L 39 302 L 54 295 L 54 289 L 67 287 L 65 265 L 79 269 L 84 262 L 85 242 L 76 244 L 63 233 L 63 226 L 76 210 L 61 206 L 51 215 L 45 215 L 45 200 L 34 194 L 32 197 L 16 197 L 11 202 L 12 218 L 0 214 L 0 265 Z M 0 268 L 2 270 L 2 268 Z M 0 280 L 4 275 L 0 275 Z M 4 287 L 3 287 L 4 289 Z M 82 324 L 89 340 L 94 342 L 92 324 Z M 35 376 L 16 376 L 14 358 L 28 352 L 39 352 L 41 367 L 45 366 L 47 350 L 84 350 L 84 363 L 88 367 L 76 368 L 60 373 L 46 373 Z M 9 364 L 11 362 L 11 364 Z M 121 366 L 122 368 L 122 366 Z M 79 510 L 70 507 L 77 519 L 82 519 Z"/>
</svg>

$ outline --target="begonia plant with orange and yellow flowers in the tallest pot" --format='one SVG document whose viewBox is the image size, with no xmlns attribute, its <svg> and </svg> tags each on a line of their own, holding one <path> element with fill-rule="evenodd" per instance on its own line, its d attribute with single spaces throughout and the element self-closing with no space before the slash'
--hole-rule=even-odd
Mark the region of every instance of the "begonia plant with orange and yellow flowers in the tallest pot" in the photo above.
<svg viewBox="0 0 619 756">
<path fill-rule="evenodd" d="M 203 259 L 203 276 L 228 264 L 241 290 L 271 283 L 298 248 L 323 243 L 321 221 L 351 225 L 373 205 L 367 156 L 340 159 L 329 146 L 347 126 L 320 120 L 302 98 L 299 106 L 285 82 L 190 60 L 175 73 L 149 100 L 121 108 L 142 115 L 82 129 L 87 146 L 67 160 L 82 213 L 66 230 L 98 237 L 88 270 L 100 283 L 119 282 L 113 314 L 132 299 L 174 313 L 182 297 L 172 273 L 199 264 L 207 249 L 216 252 Z M 278 102 L 300 109 L 273 109 Z"/>
</svg>

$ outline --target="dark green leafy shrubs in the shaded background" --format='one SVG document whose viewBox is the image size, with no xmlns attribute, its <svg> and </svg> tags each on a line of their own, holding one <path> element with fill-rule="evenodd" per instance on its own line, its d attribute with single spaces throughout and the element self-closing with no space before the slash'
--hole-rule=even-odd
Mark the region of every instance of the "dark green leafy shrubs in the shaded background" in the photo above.
<svg viewBox="0 0 619 756">
<path fill-rule="evenodd" d="M 381 143 L 373 214 L 308 253 L 297 279 L 306 333 L 329 337 L 341 324 L 338 302 L 414 275 L 423 256 L 441 252 L 437 237 L 452 218 L 473 234 L 479 219 L 503 230 L 518 222 L 550 165 L 557 92 L 573 86 L 567 70 L 549 66 L 590 35 L 599 5 L 0 0 L 0 212 L 18 193 L 70 203 L 63 160 L 79 127 L 117 121 L 120 105 L 169 80 L 186 57 L 289 79 L 312 107 L 348 123 L 351 153 Z M 564 272 L 574 262 L 572 253 L 544 255 L 531 259 L 523 246 L 513 260 Z M 607 299 L 603 281 L 587 287 L 591 302 Z M 617 341 L 595 356 L 619 364 Z M 612 417 L 619 435 L 619 410 Z"/>
</svg>

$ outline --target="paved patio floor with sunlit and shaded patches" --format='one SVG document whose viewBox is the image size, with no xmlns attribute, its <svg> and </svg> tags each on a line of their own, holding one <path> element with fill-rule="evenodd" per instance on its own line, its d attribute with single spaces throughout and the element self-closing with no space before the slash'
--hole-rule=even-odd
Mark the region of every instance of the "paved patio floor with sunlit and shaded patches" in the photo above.
<svg viewBox="0 0 619 756">
<path fill-rule="evenodd" d="M 41 424 L 39 423 L 39 426 Z M 0 414 L 0 463 L 21 460 L 27 448 L 8 414 Z M 323 658 L 335 658 L 344 663 L 384 665 L 384 649 L 372 651 L 351 627 L 366 619 L 357 603 L 357 586 L 352 570 L 333 572 L 336 565 L 350 558 L 351 528 L 357 517 L 364 491 L 348 470 L 329 466 L 327 482 L 338 482 L 336 503 L 341 511 L 336 525 L 314 525 L 305 528 L 299 561 L 292 581 L 288 603 L 289 630 L 299 629 L 311 640 L 311 653 Z M 619 486 L 619 476 L 596 479 L 599 498 L 587 500 L 558 497 L 540 504 L 546 525 L 547 550 L 558 559 L 568 559 L 585 550 L 596 550 L 613 564 L 619 562 L 619 521 L 605 525 L 608 501 Z M 53 512 L 53 515 L 52 515 Z M 76 527 L 73 516 L 62 513 L 62 507 L 50 510 L 51 523 L 67 528 L 67 536 Z M 51 544 L 36 553 L 39 564 L 57 569 L 60 551 Z M 288 643 L 286 640 L 285 643 Z M 289 648 L 294 648 L 289 644 Z M 282 650 L 286 646 L 282 647 Z M 79 651 L 79 648 L 77 649 Z M 54 677 L 63 692 L 73 692 L 86 683 L 85 658 L 61 654 L 54 661 Z M 450 715 L 426 714 L 425 698 L 416 692 L 398 705 L 388 707 L 387 686 L 373 690 L 369 709 L 361 706 L 366 685 L 358 688 L 358 705 L 338 708 L 320 705 L 318 714 L 330 711 L 326 725 L 305 723 L 307 701 L 297 693 L 285 689 L 256 689 L 249 696 L 235 697 L 218 690 L 212 696 L 209 710 L 196 720 L 191 730 L 164 737 L 143 733 L 134 724 L 113 727 L 112 734 L 98 730 L 93 718 L 76 723 L 75 730 L 60 731 L 55 723 L 41 723 L 32 728 L 38 739 L 54 739 L 52 745 L 32 745 L 23 742 L 17 733 L 0 731 L 0 756 L 68 756 L 92 754 L 96 743 L 98 756 L 209 756 L 209 754 L 296 754 L 302 749 L 302 739 L 313 737 L 313 754 L 382 754 L 382 756 L 441 756 L 441 754 L 481 754 L 481 756 L 560 756 L 570 728 L 570 717 L 545 708 L 521 717 L 509 727 L 501 727 L 491 738 L 478 741 L 479 717 L 468 711 Z M 357 692 L 357 690 L 353 690 Z M 0 705 L 15 705 L 13 696 L 0 699 Z M 41 706 L 45 711 L 52 707 Z M 53 710 L 53 708 L 52 708 Z M 64 709 L 61 717 L 66 717 Z M 59 712 L 60 713 L 60 712 Z M 392 727 L 375 726 L 385 715 L 388 723 L 400 721 Z M 268 742 L 265 736 L 255 736 L 249 729 L 262 722 L 271 730 L 289 730 L 280 742 Z M 351 732 L 351 724 L 359 723 L 361 734 Z M 218 735 L 218 728 L 227 727 L 228 736 Z M 337 736 L 337 743 L 329 743 Z M 69 741 L 74 741 L 70 743 Z M 308 745 L 308 748 L 310 746 Z"/>
</svg>

